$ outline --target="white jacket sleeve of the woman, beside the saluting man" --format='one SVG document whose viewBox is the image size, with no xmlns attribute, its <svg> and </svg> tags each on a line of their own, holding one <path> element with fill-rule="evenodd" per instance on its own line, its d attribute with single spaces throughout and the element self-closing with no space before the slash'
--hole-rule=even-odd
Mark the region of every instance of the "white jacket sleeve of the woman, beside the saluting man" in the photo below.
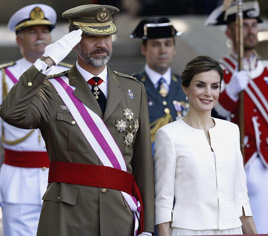
<svg viewBox="0 0 268 236">
<path fill-rule="evenodd" d="M 169 134 L 160 128 L 155 137 L 155 224 L 172 221 L 176 153 Z"/>
</svg>

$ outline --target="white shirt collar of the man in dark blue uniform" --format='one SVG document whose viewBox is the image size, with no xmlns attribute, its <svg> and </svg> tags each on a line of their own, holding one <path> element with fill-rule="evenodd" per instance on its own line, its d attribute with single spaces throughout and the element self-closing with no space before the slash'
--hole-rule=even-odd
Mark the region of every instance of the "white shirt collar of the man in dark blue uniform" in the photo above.
<svg viewBox="0 0 268 236">
<path fill-rule="evenodd" d="M 156 89 L 159 85 L 158 84 L 159 79 L 164 78 L 165 83 L 163 83 L 163 85 L 165 86 L 165 88 L 169 92 L 169 86 L 171 83 L 171 68 L 170 67 L 167 69 L 167 71 L 163 75 L 161 75 L 160 73 L 151 69 L 149 67 L 149 65 L 146 63 L 146 65 L 144 67 L 144 71 L 147 74 L 147 76 L 149 77 L 150 81 L 152 81 L 154 88 L 156 88 Z"/>
</svg>

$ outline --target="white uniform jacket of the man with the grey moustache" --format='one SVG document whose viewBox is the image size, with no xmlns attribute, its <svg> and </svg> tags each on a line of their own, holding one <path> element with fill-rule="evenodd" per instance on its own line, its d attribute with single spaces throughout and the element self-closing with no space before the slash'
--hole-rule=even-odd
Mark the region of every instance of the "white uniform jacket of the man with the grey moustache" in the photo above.
<svg viewBox="0 0 268 236">
<path fill-rule="evenodd" d="M 31 65 L 31 62 L 27 61 L 25 58 L 21 58 L 17 60 L 14 65 L 7 67 L 7 69 L 18 80 L 21 74 Z M 60 73 L 68 69 L 68 67 L 64 66 L 52 67 L 50 74 Z M 2 79 L 3 73 L 0 71 L 1 101 L 3 99 Z M 7 74 L 5 74 L 5 82 L 7 91 L 9 91 L 14 85 L 14 82 Z M 30 130 L 16 128 L 1 120 L 0 134 L 4 135 L 4 138 L 8 141 L 18 140 L 29 132 Z M 45 142 L 39 130 L 34 130 L 26 140 L 18 144 L 7 145 L 2 142 L 1 146 L 12 151 L 46 152 Z M 43 170 L 42 168 L 22 168 L 2 164 L 0 171 L 0 206 L 2 202 L 13 204 L 42 204 L 42 196 L 46 191 L 47 181 L 48 168 Z"/>
</svg>

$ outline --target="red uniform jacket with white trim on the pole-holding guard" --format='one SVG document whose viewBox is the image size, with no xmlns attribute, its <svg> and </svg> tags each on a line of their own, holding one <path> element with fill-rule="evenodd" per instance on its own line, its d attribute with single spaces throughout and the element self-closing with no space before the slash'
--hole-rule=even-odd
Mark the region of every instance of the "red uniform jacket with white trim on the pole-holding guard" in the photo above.
<svg viewBox="0 0 268 236">
<path fill-rule="evenodd" d="M 224 81 L 214 110 L 218 115 L 238 124 L 239 101 L 233 101 L 224 89 L 237 70 L 237 54 L 231 51 L 219 63 L 224 70 Z M 268 169 L 268 61 L 252 55 L 250 60 L 244 58 L 243 68 L 250 78 L 243 92 L 245 168 L 259 156 Z"/>
</svg>

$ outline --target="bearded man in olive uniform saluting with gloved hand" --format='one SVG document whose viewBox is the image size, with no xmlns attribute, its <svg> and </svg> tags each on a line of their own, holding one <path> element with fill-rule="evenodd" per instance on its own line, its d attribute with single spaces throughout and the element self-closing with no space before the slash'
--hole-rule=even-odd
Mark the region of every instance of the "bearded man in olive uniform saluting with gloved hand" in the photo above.
<svg viewBox="0 0 268 236">
<path fill-rule="evenodd" d="M 2 119 L 39 128 L 46 142 L 49 185 L 37 235 L 152 235 L 146 92 L 133 77 L 106 66 L 117 12 L 106 5 L 64 12 L 71 32 L 46 47 L 0 107 Z M 72 68 L 46 77 L 73 48 Z"/>
</svg>

